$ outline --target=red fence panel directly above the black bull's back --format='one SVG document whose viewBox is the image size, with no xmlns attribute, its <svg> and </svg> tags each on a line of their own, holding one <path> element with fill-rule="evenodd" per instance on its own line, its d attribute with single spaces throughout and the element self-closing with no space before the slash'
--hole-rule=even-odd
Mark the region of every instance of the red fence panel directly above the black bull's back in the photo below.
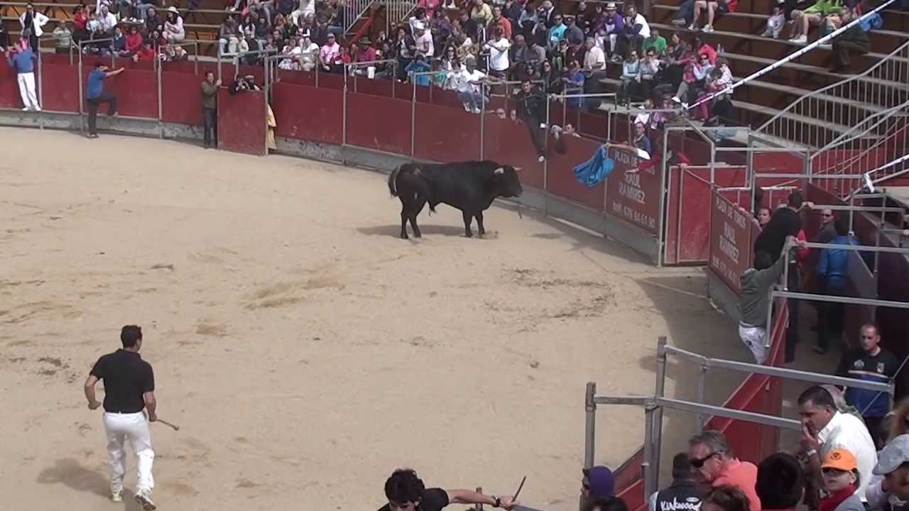
<svg viewBox="0 0 909 511">
<path fill-rule="evenodd" d="M 480 116 L 461 107 L 417 103 L 414 157 L 434 162 L 479 159 Z"/>
</svg>

